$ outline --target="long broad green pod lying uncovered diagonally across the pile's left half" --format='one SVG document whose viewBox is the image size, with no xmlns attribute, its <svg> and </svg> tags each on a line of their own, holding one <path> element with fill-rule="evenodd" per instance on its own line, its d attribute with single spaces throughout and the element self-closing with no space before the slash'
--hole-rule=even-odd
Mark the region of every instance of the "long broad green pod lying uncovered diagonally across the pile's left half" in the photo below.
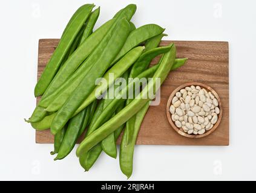
<svg viewBox="0 0 256 193">
<path fill-rule="evenodd" d="M 94 68 L 91 68 L 90 73 L 85 75 L 72 95 L 68 98 L 61 109 L 59 109 L 57 112 L 57 115 L 54 117 L 51 124 L 51 132 L 53 134 L 57 133 L 57 131 L 64 127 L 68 119 L 73 116 L 80 104 L 82 104 L 85 98 L 87 98 L 87 96 L 93 91 L 96 79 L 102 77 L 108 66 L 110 66 L 110 63 L 113 61 L 114 57 L 116 57 L 117 52 L 120 51 L 120 48 L 125 42 L 129 31 L 130 25 L 126 19 L 121 19 L 118 24 L 113 27 L 113 30 L 110 30 L 110 40 L 107 41 L 107 46 L 102 48 L 102 52 L 100 55 L 98 55 Z M 104 41 L 102 42 L 104 43 Z M 99 45 L 97 48 L 101 48 L 101 46 Z"/>
</svg>

